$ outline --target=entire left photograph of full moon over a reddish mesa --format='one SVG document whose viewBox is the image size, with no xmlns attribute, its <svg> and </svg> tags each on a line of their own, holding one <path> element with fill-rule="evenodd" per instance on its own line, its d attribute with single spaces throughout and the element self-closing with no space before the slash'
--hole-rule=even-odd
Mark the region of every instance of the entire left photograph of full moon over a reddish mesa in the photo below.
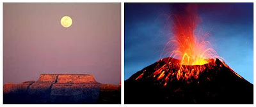
<svg viewBox="0 0 256 107">
<path fill-rule="evenodd" d="M 120 104 L 121 3 L 3 3 L 4 104 Z"/>
</svg>

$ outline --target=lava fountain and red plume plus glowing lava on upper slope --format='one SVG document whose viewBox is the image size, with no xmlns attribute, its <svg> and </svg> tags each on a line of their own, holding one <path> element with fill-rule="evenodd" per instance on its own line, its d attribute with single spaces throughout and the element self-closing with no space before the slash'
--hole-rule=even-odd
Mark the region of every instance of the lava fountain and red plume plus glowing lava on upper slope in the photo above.
<svg viewBox="0 0 256 107">
<path fill-rule="evenodd" d="M 216 66 L 214 65 L 216 59 L 223 62 L 224 59 L 218 56 L 217 52 L 211 48 L 211 43 L 206 40 L 211 37 L 211 33 L 202 32 L 202 29 L 196 32 L 197 24 L 200 22 L 196 4 L 186 5 L 186 8 L 170 15 L 170 18 L 173 25 L 171 27 L 172 38 L 166 43 L 163 51 L 166 52 L 164 57 L 168 56 L 168 61 L 163 66 L 156 68 L 152 77 L 166 86 L 175 78 L 176 80 L 197 79 L 198 75 L 206 68 Z M 173 63 L 173 59 L 180 60 Z M 224 62 L 223 64 L 227 66 Z M 136 80 L 142 76 L 143 73 Z"/>
</svg>

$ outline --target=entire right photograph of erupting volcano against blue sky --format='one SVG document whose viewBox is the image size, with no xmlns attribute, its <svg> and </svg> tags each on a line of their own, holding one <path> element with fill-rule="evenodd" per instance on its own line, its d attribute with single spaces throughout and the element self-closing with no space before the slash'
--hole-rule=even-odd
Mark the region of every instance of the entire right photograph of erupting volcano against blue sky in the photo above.
<svg viewBox="0 0 256 107">
<path fill-rule="evenodd" d="M 253 3 L 125 3 L 125 104 L 253 104 Z"/>
</svg>

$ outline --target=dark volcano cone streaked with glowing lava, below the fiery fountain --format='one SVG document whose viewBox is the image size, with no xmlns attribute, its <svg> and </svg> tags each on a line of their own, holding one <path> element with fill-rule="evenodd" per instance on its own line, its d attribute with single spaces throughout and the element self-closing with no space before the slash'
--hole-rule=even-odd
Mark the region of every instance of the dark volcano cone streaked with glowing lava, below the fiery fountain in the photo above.
<svg viewBox="0 0 256 107">
<path fill-rule="evenodd" d="M 253 104 L 253 84 L 212 59 L 182 66 L 161 59 L 125 80 L 125 104 Z"/>
</svg>

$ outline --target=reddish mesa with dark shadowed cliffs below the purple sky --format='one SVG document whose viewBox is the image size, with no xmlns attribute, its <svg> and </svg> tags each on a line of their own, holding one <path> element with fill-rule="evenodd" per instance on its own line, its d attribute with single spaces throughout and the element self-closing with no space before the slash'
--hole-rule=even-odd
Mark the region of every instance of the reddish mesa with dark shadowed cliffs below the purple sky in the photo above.
<svg viewBox="0 0 256 107">
<path fill-rule="evenodd" d="M 35 81 L 6 83 L 4 103 L 120 103 L 120 87 L 93 75 L 42 74 Z"/>
</svg>

